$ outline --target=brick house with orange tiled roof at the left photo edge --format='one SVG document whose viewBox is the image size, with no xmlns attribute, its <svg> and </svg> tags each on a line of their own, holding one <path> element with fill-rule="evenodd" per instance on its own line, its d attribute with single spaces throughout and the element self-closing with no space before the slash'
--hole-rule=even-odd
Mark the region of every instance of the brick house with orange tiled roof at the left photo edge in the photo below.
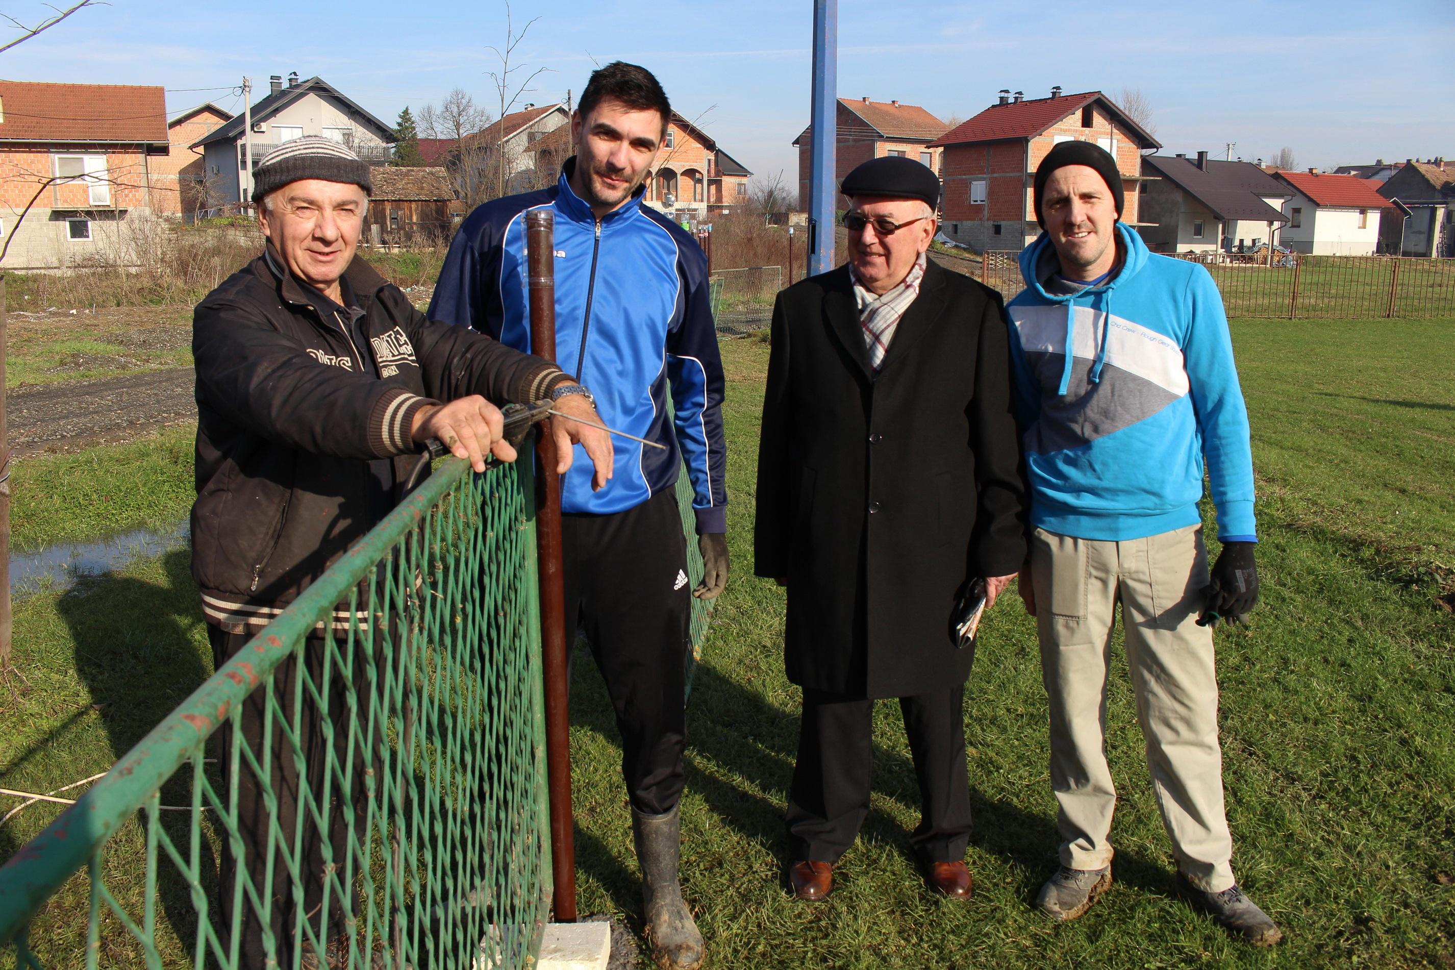
<svg viewBox="0 0 1455 970">
<path fill-rule="evenodd" d="M 0 246 L 6 269 L 124 259 L 151 218 L 166 159 L 163 89 L 0 80 Z"/>
</svg>

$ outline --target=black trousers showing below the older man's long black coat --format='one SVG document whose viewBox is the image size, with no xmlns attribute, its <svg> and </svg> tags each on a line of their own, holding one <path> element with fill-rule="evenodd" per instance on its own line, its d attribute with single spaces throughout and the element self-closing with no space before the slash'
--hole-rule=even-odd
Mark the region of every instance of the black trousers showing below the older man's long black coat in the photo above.
<svg viewBox="0 0 1455 970">
<path fill-rule="evenodd" d="M 899 698 L 915 778 L 920 827 L 909 836 L 927 862 L 959 862 L 970 841 L 970 779 L 965 765 L 965 685 Z M 789 788 L 792 859 L 837 862 L 869 814 L 874 702 L 803 689 L 799 761 Z"/>
</svg>

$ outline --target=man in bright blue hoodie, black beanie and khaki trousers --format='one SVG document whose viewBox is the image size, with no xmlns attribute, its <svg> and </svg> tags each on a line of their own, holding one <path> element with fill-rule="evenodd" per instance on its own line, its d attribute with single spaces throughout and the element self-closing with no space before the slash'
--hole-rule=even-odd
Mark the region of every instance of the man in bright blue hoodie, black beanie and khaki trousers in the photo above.
<svg viewBox="0 0 1455 970">
<path fill-rule="evenodd" d="M 1253 452 L 1222 297 L 1206 269 L 1149 253 L 1120 223 L 1122 177 L 1097 145 L 1055 145 L 1033 198 L 1045 231 L 1007 310 L 1032 486 L 1020 593 L 1040 634 L 1062 838 L 1036 905 L 1075 919 L 1112 884 L 1104 710 L 1120 602 L 1179 889 L 1273 945 L 1277 925 L 1232 875 L 1218 745 L 1212 627 L 1257 599 Z M 1222 542 L 1211 574 L 1205 460 Z"/>
</svg>

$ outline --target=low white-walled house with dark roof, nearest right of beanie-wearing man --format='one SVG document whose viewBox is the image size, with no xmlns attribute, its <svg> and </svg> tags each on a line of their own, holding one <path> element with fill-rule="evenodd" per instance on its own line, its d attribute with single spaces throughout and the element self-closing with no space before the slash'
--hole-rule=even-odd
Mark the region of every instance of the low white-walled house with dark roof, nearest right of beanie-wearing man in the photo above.
<svg viewBox="0 0 1455 970">
<path fill-rule="evenodd" d="M 1288 221 L 1285 183 L 1251 161 L 1219 161 L 1199 151 L 1142 156 L 1138 233 L 1154 253 L 1247 252 Z"/>
</svg>

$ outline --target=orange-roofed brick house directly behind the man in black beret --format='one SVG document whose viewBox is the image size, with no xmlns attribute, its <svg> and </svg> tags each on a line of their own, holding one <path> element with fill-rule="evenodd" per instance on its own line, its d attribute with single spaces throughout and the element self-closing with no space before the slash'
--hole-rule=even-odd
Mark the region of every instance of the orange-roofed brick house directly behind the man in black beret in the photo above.
<svg viewBox="0 0 1455 970">
<path fill-rule="evenodd" d="M 861 161 L 885 156 L 917 159 L 940 172 L 940 150 L 931 143 L 944 134 L 943 121 L 918 105 L 867 97 L 838 99 L 838 131 L 834 135 L 834 182 Z M 813 173 L 813 125 L 803 129 L 793 145 L 799 150 L 799 209 L 809 208 L 809 182 Z"/>
</svg>

